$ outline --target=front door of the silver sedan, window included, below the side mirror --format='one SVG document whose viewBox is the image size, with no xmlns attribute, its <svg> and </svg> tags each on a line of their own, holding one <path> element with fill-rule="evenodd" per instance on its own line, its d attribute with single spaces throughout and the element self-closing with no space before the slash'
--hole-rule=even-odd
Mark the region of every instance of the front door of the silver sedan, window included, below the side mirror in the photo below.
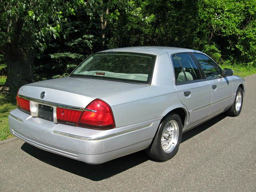
<svg viewBox="0 0 256 192">
<path fill-rule="evenodd" d="M 226 110 L 232 100 L 232 82 L 229 77 L 224 77 L 222 69 L 210 57 L 193 53 L 211 86 L 212 106 L 210 118 Z"/>
</svg>

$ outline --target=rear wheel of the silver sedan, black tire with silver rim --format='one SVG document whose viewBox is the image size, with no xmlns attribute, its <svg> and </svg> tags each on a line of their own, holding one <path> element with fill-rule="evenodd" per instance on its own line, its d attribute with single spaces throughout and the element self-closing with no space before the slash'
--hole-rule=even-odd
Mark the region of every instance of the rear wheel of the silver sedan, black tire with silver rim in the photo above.
<svg viewBox="0 0 256 192">
<path fill-rule="evenodd" d="M 177 152 L 182 137 L 182 122 L 178 114 L 166 116 L 156 133 L 156 136 L 146 150 L 147 154 L 157 160 L 171 159 Z"/>
</svg>

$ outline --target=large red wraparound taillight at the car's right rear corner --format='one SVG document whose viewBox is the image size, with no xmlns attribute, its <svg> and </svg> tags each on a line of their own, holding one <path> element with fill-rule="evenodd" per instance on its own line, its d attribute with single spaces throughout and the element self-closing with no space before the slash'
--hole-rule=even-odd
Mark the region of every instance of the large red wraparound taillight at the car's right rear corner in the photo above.
<svg viewBox="0 0 256 192">
<path fill-rule="evenodd" d="M 115 128 L 112 110 L 106 102 L 96 99 L 86 109 L 92 111 L 84 111 L 77 126 L 93 129 Z"/>
</svg>

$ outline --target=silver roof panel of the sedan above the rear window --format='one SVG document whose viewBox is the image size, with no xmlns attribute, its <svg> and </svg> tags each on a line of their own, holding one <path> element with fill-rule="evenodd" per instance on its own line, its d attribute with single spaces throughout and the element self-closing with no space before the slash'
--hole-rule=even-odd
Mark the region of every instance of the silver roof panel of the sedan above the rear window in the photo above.
<svg viewBox="0 0 256 192">
<path fill-rule="evenodd" d="M 139 47 L 124 47 L 124 48 L 115 48 L 104 50 L 101 52 L 135 52 L 135 53 L 145 53 L 159 55 L 165 52 L 169 54 L 174 54 L 178 52 L 199 52 L 197 50 L 187 49 L 187 48 L 178 48 L 178 47 L 165 47 L 165 46 L 139 46 Z"/>
</svg>

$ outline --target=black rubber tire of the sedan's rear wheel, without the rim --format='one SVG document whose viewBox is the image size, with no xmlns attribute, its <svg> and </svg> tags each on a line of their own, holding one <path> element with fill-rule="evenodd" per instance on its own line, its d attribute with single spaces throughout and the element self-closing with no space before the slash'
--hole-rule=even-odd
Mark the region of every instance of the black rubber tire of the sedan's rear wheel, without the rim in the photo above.
<svg viewBox="0 0 256 192">
<path fill-rule="evenodd" d="M 164 131 L 164 127 L 171 120 L 175 120 L 178 124 L 178 134 L 176 134 L 178 136 L 178 140 L 177 140 L 174 148 L 170 152 L 166 153 L 166 152 L 164 152 L 164 150 L 162 148 L 161 138 L 162 138 L 162 134 Z M 156 135 L 155 135 L 151 145 L 148 147 L 148 149 L 146 149 L 146 153 L 151 158 L 154 158 L 154 159 L 157 159 L 160 161 L 169 160 L 172 157 L 174 157 L 174 155 L 178 152 L 181 137 L 182 137 L 182 122 L 181 122 L 180 116 L 176 113 L 169 114 L 160 123 L 159 128 L 156 132 Z"/>
</svg>

